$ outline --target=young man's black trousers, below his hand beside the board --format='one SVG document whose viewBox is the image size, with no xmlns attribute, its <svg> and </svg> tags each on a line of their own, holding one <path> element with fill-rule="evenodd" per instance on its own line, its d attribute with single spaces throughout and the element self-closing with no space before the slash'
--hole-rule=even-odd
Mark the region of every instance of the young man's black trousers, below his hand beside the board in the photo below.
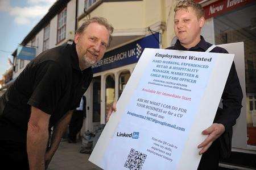
<svg viewBox="0 0 256 170">
<path fill-rule="evenodd" d="M 209 149 L 202 155 L 198 170 L 216 170 L 220 160 L 220 144 L 215 140 Z"/>
</svg>

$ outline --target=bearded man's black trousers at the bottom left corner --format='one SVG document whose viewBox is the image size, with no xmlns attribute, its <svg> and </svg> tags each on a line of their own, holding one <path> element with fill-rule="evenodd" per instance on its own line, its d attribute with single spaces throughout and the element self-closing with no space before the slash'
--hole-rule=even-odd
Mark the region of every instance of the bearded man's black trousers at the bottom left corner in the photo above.
<svg viewBox="0 0 256 170">
<path fill-rule="evenodd" d="M 0 140 L 0 165 L 6 169 L 30 169 L 26 143 Z"/>
</svg>

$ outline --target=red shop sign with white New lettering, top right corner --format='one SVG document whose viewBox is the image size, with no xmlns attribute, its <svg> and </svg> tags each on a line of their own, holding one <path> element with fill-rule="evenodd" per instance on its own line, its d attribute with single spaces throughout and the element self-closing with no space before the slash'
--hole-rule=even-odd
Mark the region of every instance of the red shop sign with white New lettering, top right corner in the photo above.
<svg viewBox="0 0 256 170">
<path fill-rule="evenodd" d="M 205 19 L 220 15 L 255 0 L 221 0 L 204 7 Z"/>
</svg>

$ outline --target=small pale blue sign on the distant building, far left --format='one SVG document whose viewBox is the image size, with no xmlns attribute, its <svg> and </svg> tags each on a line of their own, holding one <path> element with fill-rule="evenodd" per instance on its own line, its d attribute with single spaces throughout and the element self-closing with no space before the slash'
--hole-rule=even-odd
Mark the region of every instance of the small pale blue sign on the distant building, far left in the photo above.
<svg viewBox="0 0 256 170">
<path fill-rule="evenodd" d="M 17 48 L 17 59 L 32 60 L 35 58 L 36 49 L 34 47 L 25 47 L 19 45 Z"/>
</svg>

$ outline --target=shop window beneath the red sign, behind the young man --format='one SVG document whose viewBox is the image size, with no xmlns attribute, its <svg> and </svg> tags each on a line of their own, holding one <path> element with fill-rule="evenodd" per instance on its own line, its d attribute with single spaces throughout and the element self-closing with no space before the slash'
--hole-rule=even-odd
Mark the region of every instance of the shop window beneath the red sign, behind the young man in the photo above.
<svg viewBox="0 0 256 170">
<path fill-rule="evenodd" d="M 256 146 L 256 5 L 255 3 L 214 18 L 216 44 L 243 42 L 245 45 L 245 82 L 247 144 Z"/>
</svg>

